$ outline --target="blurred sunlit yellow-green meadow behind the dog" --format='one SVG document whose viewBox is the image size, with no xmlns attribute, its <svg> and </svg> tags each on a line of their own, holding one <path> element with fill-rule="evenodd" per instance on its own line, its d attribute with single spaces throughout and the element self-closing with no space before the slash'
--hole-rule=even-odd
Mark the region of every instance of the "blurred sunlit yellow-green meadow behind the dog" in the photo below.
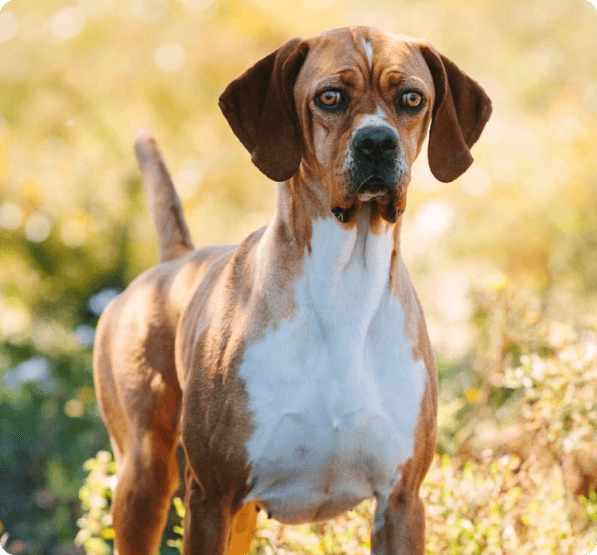
<svg viewBox="0 0 597 555">
<path fill-rule="evenodd" d="M 537 478 L 559 469 L 564 489 L 554 499 L 590 497 L 597 476 L 594 5 L 0 4 L 5 549 L 81 550 L 73 540 L 82 465 L 108 448 L 91 374 L 94 328 L 109 300 L 157 259 L 132 149 L 137 129 L 158 138 L 195 244 L 237 243 L 268 221 L 275 186 L 251 164 L 217 98 L 287 39 L 345 25 L 428 39 L 493 100 L 472 168 L 442 184 L 422 154 L 404 216 L 403 251 L 440 373 L 438 452 L 455 468 L 483 464 L 492 453 L 516 454 L 523 466 L 544 461 L 527 470 Z M 588 538 L 597 516 L 570 507 L 574 534 Z M 524 519 L 512 525 L 513 533 L 522 537 L 524 526 Z M 545 553 L 572 553 L 553 549 Z"/>
</svg>

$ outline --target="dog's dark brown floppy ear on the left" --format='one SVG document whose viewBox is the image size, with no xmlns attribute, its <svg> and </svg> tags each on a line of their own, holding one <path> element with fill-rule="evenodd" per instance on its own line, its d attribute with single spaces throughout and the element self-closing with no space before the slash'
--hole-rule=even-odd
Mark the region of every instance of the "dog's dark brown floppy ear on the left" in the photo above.
<svg viewBox="0 0 597 555">
<path fill-rule="evenodd" d="M 220 109 L 232 131 L 270 179 L 285 181 L 299 167 L 303 137 L 294 104 L 294 83 L 307 44 L 292 39 L 226 87 Z"/>
</svg>

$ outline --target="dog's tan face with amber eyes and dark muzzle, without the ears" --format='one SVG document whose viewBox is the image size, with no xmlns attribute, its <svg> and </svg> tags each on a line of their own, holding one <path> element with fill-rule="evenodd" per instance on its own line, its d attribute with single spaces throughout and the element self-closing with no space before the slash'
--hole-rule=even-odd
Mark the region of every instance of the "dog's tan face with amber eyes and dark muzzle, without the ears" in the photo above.
<svg viewBox="0 0 597 555">
<path fill-rule="evenodd" d="M 363 202 L 394 221 L 431 121 L 433 78 L 420 48 L 404 38 L 336 33 L 309 41 L 294 87 L 302 164 L 316 168 L 341 221 Z"/>
</svg>

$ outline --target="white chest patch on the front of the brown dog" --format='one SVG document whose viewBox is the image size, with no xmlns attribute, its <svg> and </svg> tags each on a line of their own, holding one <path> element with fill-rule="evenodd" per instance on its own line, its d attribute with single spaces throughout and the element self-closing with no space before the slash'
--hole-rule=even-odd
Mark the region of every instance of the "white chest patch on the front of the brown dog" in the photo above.
<svg viewBox="0 0 597 555">
<path fill-rule="evenodd" d="M 245 501 L 286 523 L 387 498 L 412 454 L 425 384 L 388 294 L 391 238 L 369 232 L 365 214 L 351 231 L 315 221 L 311 246 L 296 313 L 239 367 L 256 424 Z"/>
</svg>

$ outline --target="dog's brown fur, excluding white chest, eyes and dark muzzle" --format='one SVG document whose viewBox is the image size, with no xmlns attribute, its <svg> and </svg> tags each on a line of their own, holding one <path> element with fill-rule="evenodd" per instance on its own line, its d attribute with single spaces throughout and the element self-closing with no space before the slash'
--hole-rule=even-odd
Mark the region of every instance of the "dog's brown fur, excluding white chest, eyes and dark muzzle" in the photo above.
<svg viewBox="0 0 597 555">
<path fill-rule="evenodd" d="M 369 75 L 362 39 L 373 45 Z M 352 102 L 341 117 L 313 108 L 322 85 L 342 83 Z M 399 87 L 416 83 L 429 105 L 415 117 L 390 109 Z M 342 170 L 342 149 L 367 114 L 383 107 L 396 129 L 408 169 L 431 126 L 429 158 L 439 179 L 455 179 L 472 158 L 490 113 L 482 89 L 429 45 L 368 28 L 293 39 L 233 81 L 220 99 L 253 162 L 278 185 L 269 226 L 239 246 L 192 250 L 180 202 L 155 140 L 141 135 L 137 157 L 148 187 L 161 263 L 139 276 L 104 311 L 97 330 L 94 376 L 118 463 L 112 514 L 120 555 L 155 553 L 170 496 L 179 482 L 175 450 L 186 455 L 187 555 L 240 554 L 255 531 L 245 445 L 254 431 L 238 366 L 247 346 L 292 318 L 292 283 L 311 245 L 312 221 L 333 206 L 360 203 Z M 374 232 L 398 222 L 390 268 L 392 294 L 405 313 L 404 333 L 427 380 L 413 456 L 372 534 L 386 554 L 424 551 L 419 487 L 435 449 L 437 382 L 423 312 L 399 250 L 399 216 L 408 172 L 396 193 L 372 204 Z M 352 217 L 343 225 L 353 226 Z"/>
</svg>

